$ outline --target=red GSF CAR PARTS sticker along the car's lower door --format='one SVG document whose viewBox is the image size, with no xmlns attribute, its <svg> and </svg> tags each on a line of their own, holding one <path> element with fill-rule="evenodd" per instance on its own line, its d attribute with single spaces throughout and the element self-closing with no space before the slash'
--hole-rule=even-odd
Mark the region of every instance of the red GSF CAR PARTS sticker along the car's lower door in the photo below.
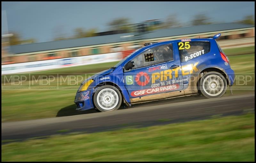
<svg viewBox="0 0 256 163">
<path fill-rule="evenodd" d="M 180 86 L 179 84 L 173 84 L 173 85 L 165 85 L 165 86 L 156 87 L 156 88 L 135 90 L 135 91 L 132 91 L 131 95 L 132 97 L 138 97 L 138 96 L 151 95 L 151 94 L 156 94 L 161 92 L 168 92 L 168 91 L 179 89 L 179 86 Z"/>
</svg>

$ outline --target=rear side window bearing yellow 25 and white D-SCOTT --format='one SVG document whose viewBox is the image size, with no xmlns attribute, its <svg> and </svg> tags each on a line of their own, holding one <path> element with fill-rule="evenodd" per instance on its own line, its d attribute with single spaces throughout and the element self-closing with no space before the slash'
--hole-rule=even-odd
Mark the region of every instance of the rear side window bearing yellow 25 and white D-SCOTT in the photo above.
<svg viewBox="0 0 256 163">
<path fill-rule="evenodd" d="M 181 62 L 189 61 L 210 52 L 209 41 L 178 42 Z"/>
</svg>

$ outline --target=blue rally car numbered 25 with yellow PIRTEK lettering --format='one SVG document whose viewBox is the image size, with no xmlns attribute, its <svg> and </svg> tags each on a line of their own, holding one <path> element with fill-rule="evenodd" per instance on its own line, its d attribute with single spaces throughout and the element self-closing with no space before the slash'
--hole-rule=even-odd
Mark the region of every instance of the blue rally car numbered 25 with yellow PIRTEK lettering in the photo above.
<svg viewBox="0 0 256 163">
<path fill-rule="evenodd" d="M 216 42 L 219 36 L 144 44 L 116 66 L 81 83 L 76 110 L 105 112 L 119 109 L 122 103 L 223 96 L 228 86 L 231 91 L 235 74 Z"/>
</svg>

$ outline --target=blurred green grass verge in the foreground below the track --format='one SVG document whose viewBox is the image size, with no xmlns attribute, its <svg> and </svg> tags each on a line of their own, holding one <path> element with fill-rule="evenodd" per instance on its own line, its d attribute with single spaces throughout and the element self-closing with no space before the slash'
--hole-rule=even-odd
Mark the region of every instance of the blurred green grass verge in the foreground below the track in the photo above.
<svg viewBox="0 0 256 163">
<path fill-rule="evenodd" d="M 2 145 L 2 161 L 254 161 L 255 115 L 55 135 Z"/>
</svg>

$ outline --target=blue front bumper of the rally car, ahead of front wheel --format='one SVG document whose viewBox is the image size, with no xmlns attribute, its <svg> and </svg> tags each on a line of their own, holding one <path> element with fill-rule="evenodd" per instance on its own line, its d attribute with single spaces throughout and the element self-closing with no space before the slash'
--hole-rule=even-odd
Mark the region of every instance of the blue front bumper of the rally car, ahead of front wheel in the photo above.
<svg viewBox="0 0 256 163">
<path fill-rule="evenodd" d="M 93 88 L 76 94 L 74 103 L 76 104 L 76 110 L 84 111 L 94 108 L 92 102 Z"/>
</svg>

